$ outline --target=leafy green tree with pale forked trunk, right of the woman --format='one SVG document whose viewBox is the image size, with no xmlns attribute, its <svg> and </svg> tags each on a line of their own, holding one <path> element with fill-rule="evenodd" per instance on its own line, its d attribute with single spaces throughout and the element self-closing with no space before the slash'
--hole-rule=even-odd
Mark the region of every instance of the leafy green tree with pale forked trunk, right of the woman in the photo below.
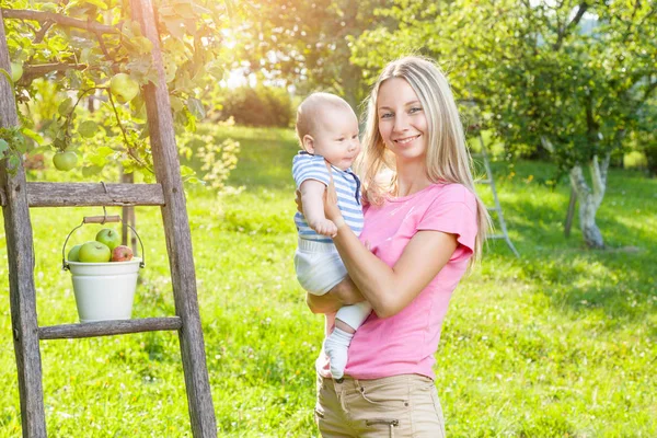
<svg viewBox="0 0 657 438">
<path fill-rule="evenodd" d="M 596 214 L 611 153 L 627 146 L 629 134 L 649 129 L 656 9 L 643 1 L 400 0 L 379 11 L 399 26 L 365 32 L 354 54 L 366 68 L 408 48 L 438 59 L 509 151 L 550 151 L 577 193 L 586 244 L 603 247 Z"/>
</svg>

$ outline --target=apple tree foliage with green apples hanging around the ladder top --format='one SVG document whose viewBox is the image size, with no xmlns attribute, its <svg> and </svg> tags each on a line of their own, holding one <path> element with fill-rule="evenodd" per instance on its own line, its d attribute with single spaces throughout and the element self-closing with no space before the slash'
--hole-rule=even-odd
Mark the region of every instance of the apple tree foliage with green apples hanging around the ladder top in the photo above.
<svg viewBox="0 0 657 438">
<path fill-rule="evenodd" d="M 0 0 L 12 65 L 4 74 L 14 85 L 21 117 L 20 129 L 0 132 L 0 152 L 10 162 L 54 148 L 59 170 L 76 168 L 82 154 L 84 176 L 118 162 L 125 173 L 152 180 L 140 85 L 158 78 L 148 56 L 152 44 L 132 20 L 129 3 Z M 230 0 L 154 3 L 171 111 L 185 148 L 205 117 L 200 93 L 222 78 L 230 56 L 223 32 L 242 11 Z M 239 146 L 227 141 L 206 149 L 216 152 L 210 158 L 201 152 L 204 162 L 212 160 L 206 171 L 215 178 L 227 176 Z M 196 180 L 191 169 L 182 171 Z"/>
</svg>

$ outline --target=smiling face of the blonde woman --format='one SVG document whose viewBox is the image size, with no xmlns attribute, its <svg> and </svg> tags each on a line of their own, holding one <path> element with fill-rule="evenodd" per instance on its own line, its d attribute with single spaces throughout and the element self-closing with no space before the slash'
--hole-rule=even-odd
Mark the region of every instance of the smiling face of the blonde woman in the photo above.
<svg viewBox="0 0 657 438">
<path fill-rule="evenodd" d="M 427 117 L 405 79 L 391 78 L 379 87 L 379 134 L 397 161 L 423 160 L 427 152 Z"/>
</svg>

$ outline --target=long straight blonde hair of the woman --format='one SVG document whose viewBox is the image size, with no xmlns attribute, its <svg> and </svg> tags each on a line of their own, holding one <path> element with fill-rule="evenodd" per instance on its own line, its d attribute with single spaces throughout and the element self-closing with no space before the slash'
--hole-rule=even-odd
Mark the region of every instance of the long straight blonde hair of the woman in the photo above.
<svg viewBox="0 0 657 438">
<path fill-rule="evenodd" d="M 470 260 L 470 266 L 473 266 L 481 258 L 491 218 L 474 191 L 472 158 L 465 146 L 463 125 L 449 82 L 440 68 L 428 58 L 407 56 L 390 62 L 372 88 L 361 142 L 364 152 L 357 164 L 362 176 L 365 196 L 368 203 L 380 205 L 396 186 L 394 154 L 385 148 L 379 134 L 377 114 L 379 88 L 391 78 L 402 78 L 408 82 L 426 114 L 429 134 L 426 153 L 428 178 L 434 183 L 462 184 L 476 198 L 479 232 L 474 254 Z M 385 177 L 387 174 L 391 177 Z"/>
</svg>

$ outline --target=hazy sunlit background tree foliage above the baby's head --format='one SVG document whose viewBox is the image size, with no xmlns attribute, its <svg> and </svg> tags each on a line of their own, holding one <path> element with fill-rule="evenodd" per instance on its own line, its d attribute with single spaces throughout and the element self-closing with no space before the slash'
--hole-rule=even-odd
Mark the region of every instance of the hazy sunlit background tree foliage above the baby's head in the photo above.
<svg viewBox="0 0 657 438">
<path fill-rule="evenodd" d="M 246 73 L 293 85 L 299 94 L 322 90 L 357 107 L 367 87 L 349 61 L 354 38 L 373 27 L 372 14 L 391 0 L 255 0 L 251 19 L 234 33 Z"/>
</svg>

